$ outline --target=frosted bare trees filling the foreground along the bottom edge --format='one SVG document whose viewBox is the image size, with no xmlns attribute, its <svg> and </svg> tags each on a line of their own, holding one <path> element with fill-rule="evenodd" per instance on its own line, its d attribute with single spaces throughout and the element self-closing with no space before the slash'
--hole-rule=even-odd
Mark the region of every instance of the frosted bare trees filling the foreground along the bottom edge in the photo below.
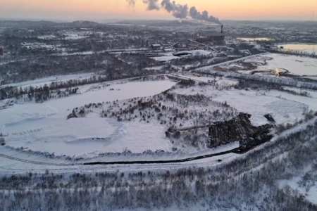
<svg viewBox="0 0 317 211">
<path fill-rule="evenodd" d="M 218 165 L 179 170 L 27 174 L 0 179 L 4 210 L 317 210 L 276 181 L 316 163 L 317 122 Z M 286 156 L 280 157 L 285 154 Z M 275 159 L 279 158 L 279 159 Z"/>
</svg>

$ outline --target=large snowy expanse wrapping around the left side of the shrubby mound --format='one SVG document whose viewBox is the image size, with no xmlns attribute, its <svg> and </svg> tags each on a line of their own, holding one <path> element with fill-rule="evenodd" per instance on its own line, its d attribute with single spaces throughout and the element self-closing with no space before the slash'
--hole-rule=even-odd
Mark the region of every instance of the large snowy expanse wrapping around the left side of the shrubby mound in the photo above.
<svg viewBox="0 0 317 211">
<path fill-rule="evenodd" d="M 0 129 L 15 148 L 69 156 L 95 156 L 106 152 L 170 150 L 159 125 L 119 123 L 91 114 L 67 120 L 73 108 L 89 103 L 152 96 L 173 87 L 169 80 L 108 83 L 80 87 L 82 94 L 44 103 L 21 103 L 0 110 Z M 132 137 L 134 137 L 132 139 Z M 154 139 L 155 138 L 155 139 Z"/>
</svg>

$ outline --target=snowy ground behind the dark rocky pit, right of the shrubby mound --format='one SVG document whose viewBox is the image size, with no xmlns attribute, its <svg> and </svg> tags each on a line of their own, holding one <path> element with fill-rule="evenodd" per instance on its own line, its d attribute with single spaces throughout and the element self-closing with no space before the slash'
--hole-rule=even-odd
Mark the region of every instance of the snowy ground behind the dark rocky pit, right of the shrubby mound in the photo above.
<svg viewBox="0 0 317 211">
<path fill-rule="evenodd" d="M 211 96 L 213 101 L 236 108 L 243 113 L 252 115 L 251 122 L 255 125 L 268 123 L 264 115 L 270 113 L 277 124 L 294 123 L 301 120 L 303 113 L 309 109 L 317 110 L 317 98 L 295 96 L 282 91 L 254 91 L 254 90 L 217 90 L 212 86 L 190 87 L 176 89 L 178 94 L 204 94 Z"/>
</svg>

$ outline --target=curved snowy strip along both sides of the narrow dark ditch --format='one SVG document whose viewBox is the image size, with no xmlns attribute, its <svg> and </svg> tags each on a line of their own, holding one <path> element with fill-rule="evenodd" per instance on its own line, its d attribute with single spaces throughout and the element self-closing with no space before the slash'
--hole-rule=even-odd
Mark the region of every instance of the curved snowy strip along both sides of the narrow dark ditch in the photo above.
<svg viewBox="0 0 317 211">
<path fill-rule="evenodd" d="M 211 153 L 220 153 L 222 151 L 229 151 L 233 148 L 239 146 L 238 142 L 230 143 L 218 148 L 211 148 L 199 153 L 192 154 L 174 154 L 170 153 L 169 155 L 113 155 L 111 156 L 99 156 L 97 158 L 87 158 L 85 160 L 78 160 L 74 162 L 73 160 L 66 160 L 63 157 L 61 158 L 50 158 L 47 155 L 42 153 L 29 153 L 21 152 L 14 150 L 7 146 L 0 146 L 0 175 L 1 174 L 13 174 L 13 173 L 25 173 L 25 172 L 45 172 L 45 170 L 50 170 L 50 172 L 103 172 L 107 170 L 117 171 L 124 170 L 125 172 L 137 172 L 139 170 L 157 170 L 157 171 L 166 171 L 172 169 L 181 169 L 183 167 L 211 167 L 213 165 L 219 165 L 223 162 L 230 162 L 241 155 L 235 153 L 228 153 L 226 155 L 219 155 L 212 158 L 206 158 L 203 160 L 192 160 L 189 162 L 180 162 L 180 163 L 169 163 L 169 164 L 148 164 L 148 165 L 97 165 L 89 166 L 82 165 L 83 162 L 111 162 L 111 161 L 131 161 L 131 160 L 174 160 L 195 157 L 199 155 L 206 155 Z M 7 155 L 15 159 L 4 158 L 1 155 Z"/>
</svg>

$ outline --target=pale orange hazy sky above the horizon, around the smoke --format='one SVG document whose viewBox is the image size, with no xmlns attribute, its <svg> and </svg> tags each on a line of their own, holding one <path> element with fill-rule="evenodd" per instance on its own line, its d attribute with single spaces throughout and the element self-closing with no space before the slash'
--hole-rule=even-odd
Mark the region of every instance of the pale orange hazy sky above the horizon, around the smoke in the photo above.
<svg viewBox="0 0 317 211">
<path fill-rule="evenodd" d="M 317 20 L 317 0 L 176 0 L 220 19 Z M 0 18 L 53 20 L 166 19 L 166 11 L 147 11 L 125 0 L 0 0 Z"/>
</svg>

